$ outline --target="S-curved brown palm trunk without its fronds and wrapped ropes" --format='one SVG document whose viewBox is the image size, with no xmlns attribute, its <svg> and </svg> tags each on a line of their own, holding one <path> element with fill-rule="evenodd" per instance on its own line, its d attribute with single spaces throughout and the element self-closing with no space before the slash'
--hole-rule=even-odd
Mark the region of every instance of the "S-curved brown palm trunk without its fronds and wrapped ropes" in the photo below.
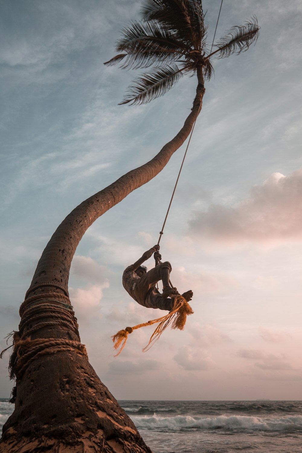
<svg viewBox="0 0 302 453">
<path fill-rule="evenodd" d="M 205 92 L 201 68 L 197 76 L 199 83 L 192 112 L 179 133 L 147 164 L 88 198 L 65 218 L 38 262 L 31 286 L 37 283 L 41 286 L 33 288 L 27 297 L 40 295 L 51 299 L 64 294 L 59 287 L 43 286 L 43 282 L 59 282 L 67 288 L 72 257 L 87 228 L 134 189 L 154 178 L 183 144 L 201 110 Z M 69 301 L 65 305 L 68 304 Z M 58 339 L 61 343 L 75 342 L 76 347 L 58 348 L 55 354 L 38 354 L 25 364 L 22 373 L 15 373 L 15 409 L 3 427 L 0 453 L 151 453 L 133 422 L 96 376 L 86 354 L 77 349 L 81 345 L 76 321 L 69 328 L 67 323 L 56 324 L 58 318 L 52 313 L 37 315 L 36 311 L 35 320 L 25 319 L 23 313 L 24 310 L 20 336 L 26 338 L 32 329 L 31 341 Z M 41 321 L 48 325 L 35 330 L 34 325 Z"/>
</svg>

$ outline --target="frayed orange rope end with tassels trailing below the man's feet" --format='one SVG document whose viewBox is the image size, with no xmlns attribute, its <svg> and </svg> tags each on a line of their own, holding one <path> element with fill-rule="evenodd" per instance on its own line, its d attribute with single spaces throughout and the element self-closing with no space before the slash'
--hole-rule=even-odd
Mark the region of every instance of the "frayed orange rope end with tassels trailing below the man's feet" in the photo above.
<svg viewBox="0 0 302 453">
<path fill-rule="evenodd" d="M 183 330 L 187 321 L 187 315 L 193 314 L 192 307 L 188 304 L 187 300 L 182 297 L 182 295 L 177 294 L 174 298 L 173 309 L 165 316 L 161 318 L 153 319 L 148 321 L 148 323 L 138 324 L 134 327 L 126 327 L 124 330 L 120 330 L 118 333 L 113 335 L 112 341 L 114 343 L 113 347 L 119 349 L 120 351 L 115 354 L 114 357 L 117 357 L 125 347 L 128 334 L 132 333 L 135 329 L 139 329 L 145 326 L 151 326 L 152 324 L 159 323 L 157 328 L 154 330 L 153 334 L 150 337 L 149 343 L 144 347 L 143 352 L 148 351 L 150 347 L 158 340 L 163 331 L 172 323 L 172 329 Z"/>
</svg>

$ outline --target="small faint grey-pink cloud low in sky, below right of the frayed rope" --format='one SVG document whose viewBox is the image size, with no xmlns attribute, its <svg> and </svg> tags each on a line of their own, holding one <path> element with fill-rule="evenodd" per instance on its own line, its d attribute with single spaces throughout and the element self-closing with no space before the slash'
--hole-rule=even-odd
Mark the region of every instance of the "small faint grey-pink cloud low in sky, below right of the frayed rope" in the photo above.
<svg viewBox="0 0 302 453">
<path fill-rule="evenodd" d="M 214 365 L 207 351 L 190 346 L 178 348 L 178 352 L 173 359 L 187 371 L 204 371 Z"/>
</svg>

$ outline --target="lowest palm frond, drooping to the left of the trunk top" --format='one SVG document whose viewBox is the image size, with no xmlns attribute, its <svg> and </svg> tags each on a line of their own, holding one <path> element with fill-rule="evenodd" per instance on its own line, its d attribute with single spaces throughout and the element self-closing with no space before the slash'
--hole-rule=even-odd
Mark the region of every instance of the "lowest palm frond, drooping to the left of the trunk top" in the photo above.
<svg viewBox="0 0 302 453">
<path fill-rule="evenodd" d="M 120 104 L 131 102 L 146 104 L 156 97 L 163 96 L 182 77 L 182 71 L 176 64 L 155 68 L 137 77 L 128 87 L 125 98 Z"/>
</svg>

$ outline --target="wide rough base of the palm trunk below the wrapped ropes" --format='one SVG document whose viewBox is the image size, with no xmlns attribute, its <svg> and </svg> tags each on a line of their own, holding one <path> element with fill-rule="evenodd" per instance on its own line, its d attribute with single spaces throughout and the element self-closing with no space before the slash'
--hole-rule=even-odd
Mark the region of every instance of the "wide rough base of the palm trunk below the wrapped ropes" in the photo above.
<svg viewBox="0 0 302 453">
<path fill-rule="evenodd" d="M 17 381 L 0 453 L 151 453 L 134 423 L 77 352 L 37 357 Z"/>
</svg>

